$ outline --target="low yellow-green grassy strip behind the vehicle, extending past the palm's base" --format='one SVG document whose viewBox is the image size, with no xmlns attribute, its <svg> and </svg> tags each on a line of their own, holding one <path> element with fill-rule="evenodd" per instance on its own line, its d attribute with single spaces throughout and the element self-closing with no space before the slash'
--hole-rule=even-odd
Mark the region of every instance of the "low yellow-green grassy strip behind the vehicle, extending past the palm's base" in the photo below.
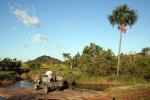
<svg viewBox="0 0 150 100">
<path fill-rule="evenodd" d="M 30 73 L 24 75 L 24 77 L 29 77 L 35 79 L 35 77 L 40 74 L 45 73 L 47 70 L 52 70 L 57 76 L 63 76 L 64 80 L 72 83 L 76 81 L 78 84 L 147 84 L 146 80 L 142 77 L 130 76 L 130 75 L 120 75 L 119 77 L 113 76 L 89 76 L 88 74 L 82 72 L 81 70 L 74 69 L 70 70 L 68 67 L 62 65 L 59 67 L 50 67 L 48 69 L 37 69 L 31 71 Z"/>
</svg>

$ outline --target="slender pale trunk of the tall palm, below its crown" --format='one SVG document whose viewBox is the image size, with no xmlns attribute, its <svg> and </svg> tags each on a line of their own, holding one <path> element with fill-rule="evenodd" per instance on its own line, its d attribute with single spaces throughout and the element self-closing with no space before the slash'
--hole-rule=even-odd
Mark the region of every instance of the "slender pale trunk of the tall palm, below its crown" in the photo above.
<svg viewBox="0 0 150 100">
<path fill-rule="evenodd" d="M 119 70 L 120 70 L 121 44 L 122 44 L 122 31 L 120 31 L 119 52 L 118 52 L 118 65 L 117 65 L 117 77 L 119 76 Z"/>
</svg>

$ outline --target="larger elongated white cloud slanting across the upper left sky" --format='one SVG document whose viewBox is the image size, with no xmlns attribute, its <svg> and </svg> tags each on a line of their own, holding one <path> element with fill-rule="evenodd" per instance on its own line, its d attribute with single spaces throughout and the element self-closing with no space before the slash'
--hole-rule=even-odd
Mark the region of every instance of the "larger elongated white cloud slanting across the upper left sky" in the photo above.
<svg viewBox="0 0 150 100">
<path fill-rule="evenodd" d="M 12 13 L 27 26 L 37 27 L 40 25 L 39 19 L 35 15 L 30 16 L 27 10 L 15 8 Z"/>
</svg>

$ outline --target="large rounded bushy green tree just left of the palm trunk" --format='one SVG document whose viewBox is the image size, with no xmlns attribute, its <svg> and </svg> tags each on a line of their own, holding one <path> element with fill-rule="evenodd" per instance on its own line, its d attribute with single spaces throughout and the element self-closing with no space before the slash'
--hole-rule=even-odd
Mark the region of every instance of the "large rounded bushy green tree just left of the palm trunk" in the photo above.
<svg viewBox="0 0 150 100">
<path fill-rule="evenodd" d="M 91 43 L 85 46 L 82 55 L 77 53 L 69 60 L 73 68 L 80 69 L 89 76 L 113 74 L 115 70 L 115 56 L 110 49 Z"/>
</svg>

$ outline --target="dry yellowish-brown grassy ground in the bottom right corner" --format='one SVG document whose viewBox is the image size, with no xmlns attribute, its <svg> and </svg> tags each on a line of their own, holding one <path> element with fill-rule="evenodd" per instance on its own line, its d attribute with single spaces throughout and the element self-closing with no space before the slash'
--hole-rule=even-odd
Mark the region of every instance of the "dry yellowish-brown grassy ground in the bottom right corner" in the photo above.
<svg viewBox="0 0 150 100">
<path fill-rule="evenodd" d="M 105 90 L 114 100 L 149 100 L 150 84 L 112 87 Z"/>
</svg>

